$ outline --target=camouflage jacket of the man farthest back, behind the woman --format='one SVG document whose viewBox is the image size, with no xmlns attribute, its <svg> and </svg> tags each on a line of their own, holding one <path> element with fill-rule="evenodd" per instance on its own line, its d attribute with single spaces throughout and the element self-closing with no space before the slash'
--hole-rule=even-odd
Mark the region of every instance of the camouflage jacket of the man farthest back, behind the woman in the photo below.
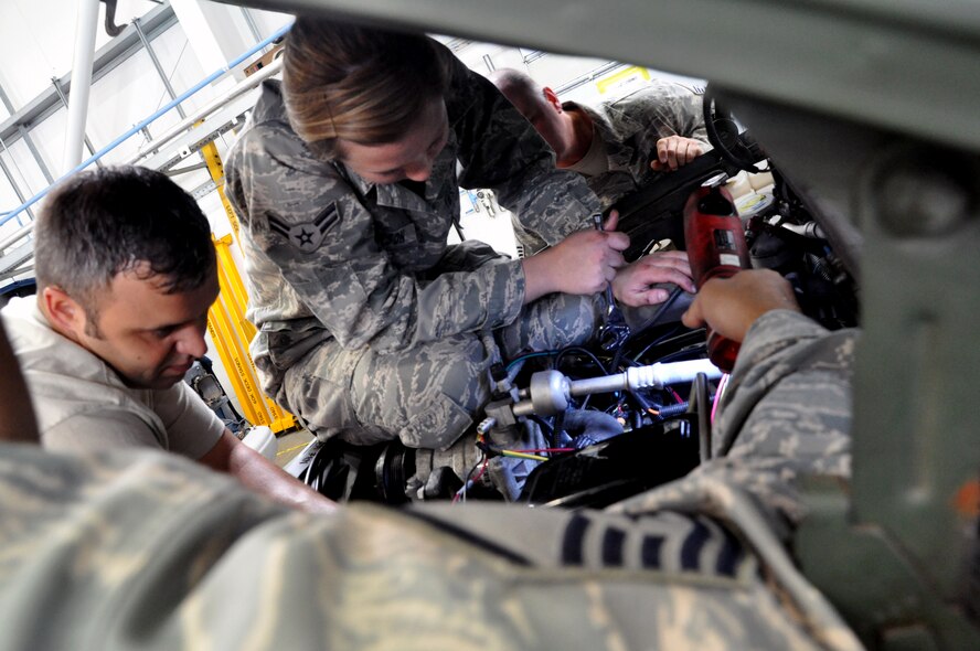
<svg viewBox="0 0 980 651">
<path fill-rule="evenodd" d="M 584 110 L 592 117 L 596 132 L 606 142 L 609 171 L 588 177 L 588 186 L 599 196 L 603 209 L 617 200 L 650 185 L 662 173 L 650 169 L 657 156 L 657 141 L 668 136 L 684 136 L 711 149 L 701 95 L 679 84 L 658 81 L 615 102 L 596 108 L 573 102 L 566 108 Z"/>
</svg>

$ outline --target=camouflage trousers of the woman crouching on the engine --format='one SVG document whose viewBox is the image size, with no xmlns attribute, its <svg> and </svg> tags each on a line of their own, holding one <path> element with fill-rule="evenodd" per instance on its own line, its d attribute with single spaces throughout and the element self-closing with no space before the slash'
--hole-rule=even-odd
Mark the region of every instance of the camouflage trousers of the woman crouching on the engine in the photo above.
<svg viewBox="0 0 980 651">
<path fill-rule="evenodd" d="M 384 354 L 331 340 L 287 372 L 286 399 L 318 436 L 359 445 L 397 437 L 408 447 L 445 449 L 489 399 L 492 363 L 585 343 L 601 306 L 598 296 L 551 295 L 492 332 Z"/>
</svg>

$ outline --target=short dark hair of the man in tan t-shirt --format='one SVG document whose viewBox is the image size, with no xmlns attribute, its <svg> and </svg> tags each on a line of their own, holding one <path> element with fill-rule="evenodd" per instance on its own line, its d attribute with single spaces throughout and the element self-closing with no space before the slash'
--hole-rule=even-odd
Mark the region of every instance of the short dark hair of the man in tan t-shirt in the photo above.
<svg viewBox="0 0 980 651">
<path fill-rule="evenodd" d="M 74 174 L 47 195 L 34 227 L 38 289 L 57 286 L 95 314 L 94 292 L 124 271 L 160 276 L 168 294 L 216 268 L 211 226 L 166 174 L 135 166 Z"/>
</svg>

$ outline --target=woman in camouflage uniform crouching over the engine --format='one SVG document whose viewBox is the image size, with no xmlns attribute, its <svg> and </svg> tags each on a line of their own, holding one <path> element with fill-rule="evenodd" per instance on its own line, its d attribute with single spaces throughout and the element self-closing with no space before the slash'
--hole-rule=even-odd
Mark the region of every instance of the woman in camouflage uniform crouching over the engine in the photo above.
<svg viewBox="0 0 980 651">
<path fill-rule="evenodd" d="M 451 445 L 491 362 L 592 335 L 628 245 L 493 85 L 420 35 L 298 18 L 226 172 L 263 386 L 354 444 Z M 460 186 L 551 247 L 447 245 Z"/>
</svg>

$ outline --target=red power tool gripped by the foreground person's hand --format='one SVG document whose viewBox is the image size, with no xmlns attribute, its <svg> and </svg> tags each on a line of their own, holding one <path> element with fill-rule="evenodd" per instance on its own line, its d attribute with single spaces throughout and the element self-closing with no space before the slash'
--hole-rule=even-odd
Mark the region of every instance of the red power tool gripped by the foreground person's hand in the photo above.
<svg viewBox="0 0 980 651">
<path fill-rule="evenodd" d="M 745 231 L 724 177 L 709 180 L 684 205 L 684 239 L 697 289 L 714 277 L 727 278 L 752 267 Z M 731 373 L 742 344 L 707 330 L 707 356 Z"/>
</svg>

